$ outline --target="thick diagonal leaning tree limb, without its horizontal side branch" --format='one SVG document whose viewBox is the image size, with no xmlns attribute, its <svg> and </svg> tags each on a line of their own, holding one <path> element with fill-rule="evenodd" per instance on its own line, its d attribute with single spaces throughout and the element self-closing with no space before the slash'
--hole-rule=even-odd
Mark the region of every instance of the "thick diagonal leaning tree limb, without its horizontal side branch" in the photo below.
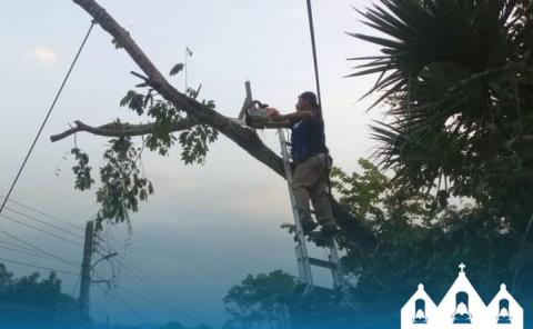
<svg viewBox="0 0 533 329">
<path fill-rule="evenodd" d="M 189 118 L 217 129 L 253 158 L 285 178 L 282 159 L 263 143 L 254 130 L 240 126 L 230 118 L 178 91 L 167 81 L 163 74 L 161 74 L 141 48 L 133 41 L 130 33 L 94 0 L 72 1 L 86 10 L 103 30 L 111 34 L 117 44 L 124 48 L 131 59 L 133 59 L 147 76 L 147 83 L 157 90 L 165 100 L 171 102 L 177 109 L 185 111 Z M 346 233 L 352 233 L 353 237 L 360 240 L 361 247 L 368 249 L 375 246 L 373 236 L 362 226 L 361 219 L 354 219 L 336 201 L 333 202 L 333 210 L 339 223 L 343 226 Z"/>
</svg>

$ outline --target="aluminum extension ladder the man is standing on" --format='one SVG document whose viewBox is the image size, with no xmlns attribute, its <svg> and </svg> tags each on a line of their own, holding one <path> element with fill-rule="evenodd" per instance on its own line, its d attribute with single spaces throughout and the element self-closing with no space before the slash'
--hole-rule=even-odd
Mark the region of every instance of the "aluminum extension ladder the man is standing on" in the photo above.
<svg viewBox="0 0 533 329">
<path fill-rule="evenodd" d="M 328 260 L 313 258 L 310 257 L 308 253 L 306 240 L 305 236 L 303 235 L 302 225 L 300 221 L 300 213 L 298 211 L 296 201 L 292 191 L 292 170 L 291 158 L 289 153 L 290 144 L 285 139 L 285 131 L 283 129 L 278 129 L 278 136 L 280 137 L 281 156 L 283 158 L 286 183 L 291 198 L 292 215 L 294 217 L 294 227 L 296 233 L 296 245 L 294 246 L 294 251 L 296 253 L 300 281 L 308 286 L 306 290 L 314 289 L 315 285 L 313 281 L 313 275 L 311 272 L 311 266 L 322 267 L 331 270 L 331 275 L 333 278 L 333 288 L 339 288 L 342 283 L 342 268 L 339 259 L 339 249 L 336 247 L 336 241 L 334 237 L 331 238 L 331 241 L 325 246 L 329 251 Z"/>
</svg>

